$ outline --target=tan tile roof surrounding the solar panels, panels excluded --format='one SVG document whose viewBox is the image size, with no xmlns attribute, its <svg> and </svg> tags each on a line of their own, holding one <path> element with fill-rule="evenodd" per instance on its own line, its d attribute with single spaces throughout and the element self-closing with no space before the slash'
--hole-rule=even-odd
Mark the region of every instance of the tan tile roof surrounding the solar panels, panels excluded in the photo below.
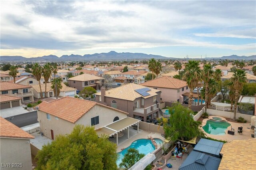
<svg viewBox="0 0 256 170">
<path fill-rule="evenodd" d="M 123 99 L 123 100 L 129 100 L 134 101 L 138 97 L 143 97 L 144 99 L 147 99 L 148 97 L 156 96 L 157 93 L 160 90 L 149 88 L 150 91 L 147 91 L 150 95 L 148 96 L 142 96 L 139 93 L 135 91 L 135 89 L 142 89 L 146 88 L 145 86 L 138 85 L 136 83 L 129 83 L 126 85 L 122 85 L 120 87 L 116 87 L 114 89 L 110 89 L 106 91 L 106 97 L 113 97 L 116 99 Z M 95 93 L 95 95 L 101 95 L 101 92 Z"/>
</svg>

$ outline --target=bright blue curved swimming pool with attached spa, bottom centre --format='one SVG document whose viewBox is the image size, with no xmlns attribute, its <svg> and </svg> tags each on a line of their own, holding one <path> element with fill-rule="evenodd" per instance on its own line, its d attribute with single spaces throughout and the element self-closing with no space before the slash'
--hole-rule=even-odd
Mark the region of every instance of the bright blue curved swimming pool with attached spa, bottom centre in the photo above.
<svg viewBox="0 0 256 170">
<path fill-rule="evenodd" d="M 162 144 L 163 141 L 159 138 L 154 138 L 154 140 L 156 141 L 156 144 Z M 138 149 L 140 154 L 148 154 L 153 152 L 156 148 L 154 146 L 154 144 L 151 142 L 150 139 L 138 139 L 135 140 L 134 142 L 132 142 L 132 144 L 125 148 L 124 150 L 122 150 L 121 152 L 118 152 L 118 159 L 116 161 L 116 164 L 119 166 L 119 164 L 122 162 L 122 158 L 124 158 L 124 154 L 126 154 L 127 150 L 129 148 L 135 148 Z"/>
</svg>

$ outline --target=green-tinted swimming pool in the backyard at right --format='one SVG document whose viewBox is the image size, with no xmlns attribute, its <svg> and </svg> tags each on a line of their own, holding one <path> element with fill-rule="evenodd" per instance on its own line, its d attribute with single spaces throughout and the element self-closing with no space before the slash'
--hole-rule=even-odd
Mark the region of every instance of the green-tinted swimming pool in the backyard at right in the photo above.
<svg viewBox="0 0 256 170">
<path fill-rule="evenodd" d="M 215 134 L 215 135 L 224 135 L 225 130 L 230 126 L 230 123 L 227 122 L 220 122 L 214 120 L 208 120 L 206 125 L 203 126 L 203 129 L 208 134 Z"/>
</svg>

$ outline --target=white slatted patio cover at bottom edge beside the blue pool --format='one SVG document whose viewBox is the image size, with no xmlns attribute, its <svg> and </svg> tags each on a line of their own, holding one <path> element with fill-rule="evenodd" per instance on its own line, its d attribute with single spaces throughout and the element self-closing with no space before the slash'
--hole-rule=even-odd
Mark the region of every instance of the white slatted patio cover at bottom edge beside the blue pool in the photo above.
<svg viewBox="0 0 256 170">
<path fill-rule="evenodd" d="M 129 170 L 144 170 L 153 160 L 156 159 L 155 154 L 146 154 L 138 162 L 136 162 Z"/>
</svg>

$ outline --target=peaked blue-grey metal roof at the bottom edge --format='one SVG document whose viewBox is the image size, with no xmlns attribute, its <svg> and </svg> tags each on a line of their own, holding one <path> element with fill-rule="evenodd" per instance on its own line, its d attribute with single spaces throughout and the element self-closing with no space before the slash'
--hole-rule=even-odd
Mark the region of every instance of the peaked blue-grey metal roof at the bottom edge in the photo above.
<svg viewBox="0 0 256 170">
<path fill-rule="evenodd" d="M 220 158 L 192 150 L 179 170 L 218 170 Z"/>
</svg>

